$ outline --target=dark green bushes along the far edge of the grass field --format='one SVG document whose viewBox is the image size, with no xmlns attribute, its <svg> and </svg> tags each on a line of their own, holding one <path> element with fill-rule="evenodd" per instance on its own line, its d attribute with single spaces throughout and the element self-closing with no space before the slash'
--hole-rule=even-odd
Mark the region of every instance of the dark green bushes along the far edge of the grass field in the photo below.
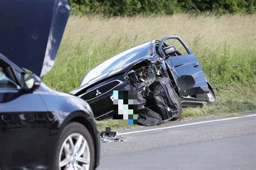
<svg viewBox="0 0 256 170">
<path fill-rule="evenodd" d="M 74 15 L 172 15 L 174 12 L 254 13 L 255 0 L 69 0 Z"/>
</svg>

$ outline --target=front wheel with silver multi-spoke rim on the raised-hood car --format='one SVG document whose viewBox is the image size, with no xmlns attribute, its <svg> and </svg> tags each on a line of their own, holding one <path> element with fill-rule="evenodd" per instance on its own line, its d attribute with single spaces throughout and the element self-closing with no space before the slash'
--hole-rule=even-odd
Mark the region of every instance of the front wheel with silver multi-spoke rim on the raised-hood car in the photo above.
<svg viewBox="0 0 256 170">
<path fill-rule="evenodd" d="M 87 164 L 83 162 L 87 162 Z M 61 132 L 53 169 L 67 169 L 69 166 L 83 166 L 85 169 L 95 168 L 95 147 L 91 134 L 84 125 L 77 122 L 69 123 Z"/>
</svg>

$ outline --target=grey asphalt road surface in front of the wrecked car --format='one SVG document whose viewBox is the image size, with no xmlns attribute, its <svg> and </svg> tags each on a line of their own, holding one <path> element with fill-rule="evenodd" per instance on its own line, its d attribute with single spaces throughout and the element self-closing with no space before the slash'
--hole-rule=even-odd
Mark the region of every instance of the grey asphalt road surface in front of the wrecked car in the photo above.
<svg viewBox="0 0 256 170">
<path fill-rule="evenodd" d="M 250 113 L 245 115 L 253 115 Z M 142 131 L 218 118 L 132 129 Z M 122 133 L 122 132 L 119 132 Z M 97 169 L 256 169 L 256 116 L 124 134 L 102 143 Z"/>
</svg>

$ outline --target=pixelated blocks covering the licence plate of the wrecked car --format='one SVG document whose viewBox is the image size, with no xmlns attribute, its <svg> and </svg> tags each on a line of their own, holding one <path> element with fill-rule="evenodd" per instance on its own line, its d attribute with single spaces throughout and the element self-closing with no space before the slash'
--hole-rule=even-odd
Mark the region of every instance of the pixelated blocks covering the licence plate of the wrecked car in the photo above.
<svg viewBox="0 0 256 170">
<path fill-rule="evenodd" d="M 138 119 L 137 90 L 113 90 L 114 124 L 133 125 Z"/>
</svg>

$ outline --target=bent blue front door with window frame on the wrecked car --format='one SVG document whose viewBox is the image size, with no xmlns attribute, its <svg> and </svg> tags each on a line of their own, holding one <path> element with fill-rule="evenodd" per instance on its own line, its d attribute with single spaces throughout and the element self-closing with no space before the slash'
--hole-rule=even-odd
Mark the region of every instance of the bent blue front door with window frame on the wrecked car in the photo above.
<svg viewBox="0 0 256 170">
<path fill-rule="evenodd" d="M 169 39 L 177 39 L 186 49 L 187 54 L 182 55 L 178 52 L 174 55 L 167 55 L 164 51 L 164 46 L 166 45 L 164 42 Z M 171 70 L 180 96 L 208 93 L 208 84 L 203 69 L 197 57 L 191 52 L 183 40 L 174 36 L 164 37 L 159 47 L 162 48 L 158 48 L 158 53 L 165 59 L 167 67 Z"/>
</svg>

